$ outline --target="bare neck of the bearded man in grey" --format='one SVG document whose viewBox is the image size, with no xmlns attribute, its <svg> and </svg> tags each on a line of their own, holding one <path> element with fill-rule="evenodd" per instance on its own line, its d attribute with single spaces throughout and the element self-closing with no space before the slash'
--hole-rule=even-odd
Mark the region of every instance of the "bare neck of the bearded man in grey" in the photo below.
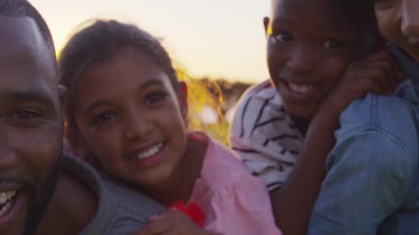
<svg viewBox="0 0 419 235">
<path fill-rule="evenodd" d="M 61 172 L 36 234 L 79 234 L 93 218 L 97 207 L 98 199 L 85 183 Z"/>
</svg>

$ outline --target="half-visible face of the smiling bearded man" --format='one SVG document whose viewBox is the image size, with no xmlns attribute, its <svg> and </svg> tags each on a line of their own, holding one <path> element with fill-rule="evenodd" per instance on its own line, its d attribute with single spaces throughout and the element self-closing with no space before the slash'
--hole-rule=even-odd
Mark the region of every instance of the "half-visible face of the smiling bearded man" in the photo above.
<svg viewBox="0 0 419 235">
<path fill-rule="evenodd" d="M 0 32 L 0 234 L 30 233 L 61 155 L 57 74 L 32 19 L 0 16 Z"/>
</svg>

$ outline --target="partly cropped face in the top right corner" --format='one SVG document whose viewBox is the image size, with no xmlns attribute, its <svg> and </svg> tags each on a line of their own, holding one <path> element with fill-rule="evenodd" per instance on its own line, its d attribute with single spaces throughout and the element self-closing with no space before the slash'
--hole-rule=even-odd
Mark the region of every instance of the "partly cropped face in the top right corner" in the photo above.
<svg viewBox="0 0 419 235">
<path fill-rule="evenodd" d="M 419 1 L 374 1 L 380 32 L 419 62 Z"/>
</svg>

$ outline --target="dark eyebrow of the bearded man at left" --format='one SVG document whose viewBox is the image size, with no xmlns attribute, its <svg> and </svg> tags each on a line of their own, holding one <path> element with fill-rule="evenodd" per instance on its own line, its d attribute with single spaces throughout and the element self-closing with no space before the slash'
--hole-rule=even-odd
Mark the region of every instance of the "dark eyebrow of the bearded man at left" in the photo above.
<svg viewBox="0 0 419 235">
<path fill-rule="evenodd" d="M 38 102 L 48 107 L 54 107 L 52 99 L 39 91 L 10 91 L 4 96 L 0 96 L 0 99 L 10 102 Z"/>
</svg>

